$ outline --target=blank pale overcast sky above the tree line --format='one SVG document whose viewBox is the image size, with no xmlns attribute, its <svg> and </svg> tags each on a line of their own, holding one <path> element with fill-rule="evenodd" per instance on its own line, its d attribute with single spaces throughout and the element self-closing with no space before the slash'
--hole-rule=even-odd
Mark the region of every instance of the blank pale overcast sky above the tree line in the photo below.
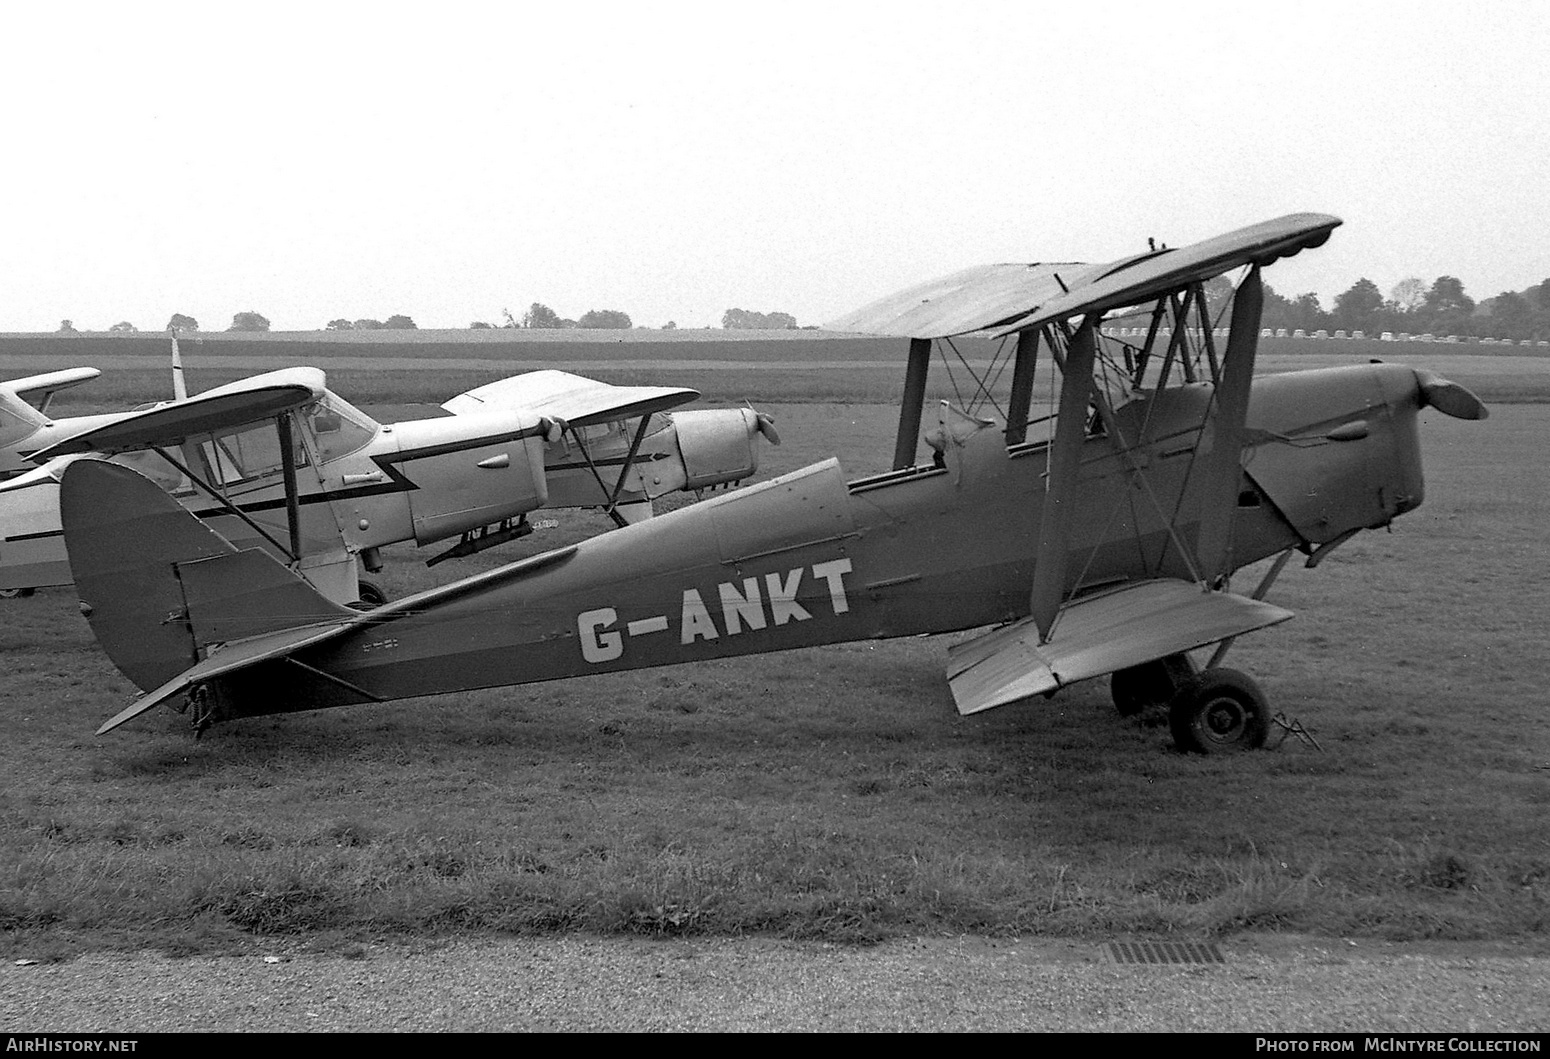
<svg viewBox="0 0 1550 1059">
<path fill-rule="evenodd" d="M 242 14 L 236 14 L 240 11 Z M 1266 279 L 1550 276 L 1550 5 L 26 5 L 0 330 L 822 323 L 1294 211 Z"/>
</svg>

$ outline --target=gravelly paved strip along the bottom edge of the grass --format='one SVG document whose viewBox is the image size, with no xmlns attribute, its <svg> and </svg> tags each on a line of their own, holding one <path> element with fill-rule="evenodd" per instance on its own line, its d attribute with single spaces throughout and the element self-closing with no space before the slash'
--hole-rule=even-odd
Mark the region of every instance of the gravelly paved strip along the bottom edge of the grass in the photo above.
<svg viewBox="0 0 1550 1059">
<path fill-rule="evenodd" d="M 0 968 L 0 1031 L 1550 1030 L 1547 955 L 1274 937 L 1221 947 L 1226 963 L 1209 966 L 1118 966 L 1099 941 L 983 938 L 90 955 Z"/>
</svg>

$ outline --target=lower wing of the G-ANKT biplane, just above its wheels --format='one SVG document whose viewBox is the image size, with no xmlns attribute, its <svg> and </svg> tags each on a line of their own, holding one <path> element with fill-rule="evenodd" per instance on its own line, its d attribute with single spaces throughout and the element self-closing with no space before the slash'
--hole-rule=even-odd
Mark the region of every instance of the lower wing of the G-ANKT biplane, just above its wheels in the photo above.
<svg viewBox="0 0 1550 1059">
<path fill-rule="evenodd" d="M 1031 617 L 947 651 L 959 713 L 1043 695 L 1285 622 L 1291 611 L 1180 580 L 1125 585 L 1068 603 L 1048 643 Z"/>
</svg>

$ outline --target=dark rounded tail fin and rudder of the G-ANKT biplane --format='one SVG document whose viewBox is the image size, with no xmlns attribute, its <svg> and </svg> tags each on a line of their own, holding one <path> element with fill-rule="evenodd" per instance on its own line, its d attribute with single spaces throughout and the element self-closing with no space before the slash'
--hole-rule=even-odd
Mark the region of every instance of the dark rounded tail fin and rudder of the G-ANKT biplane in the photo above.
<svg viewBox="0 0 1550 1059">
<path fill-rule="evenodd" d="M 59 513 L 81 609 L 143 690 L 183 673 L 211 645 L 355 614 L 267 552 L 239 550 L 119 464 L 71 462 Z"/>
</svg>

